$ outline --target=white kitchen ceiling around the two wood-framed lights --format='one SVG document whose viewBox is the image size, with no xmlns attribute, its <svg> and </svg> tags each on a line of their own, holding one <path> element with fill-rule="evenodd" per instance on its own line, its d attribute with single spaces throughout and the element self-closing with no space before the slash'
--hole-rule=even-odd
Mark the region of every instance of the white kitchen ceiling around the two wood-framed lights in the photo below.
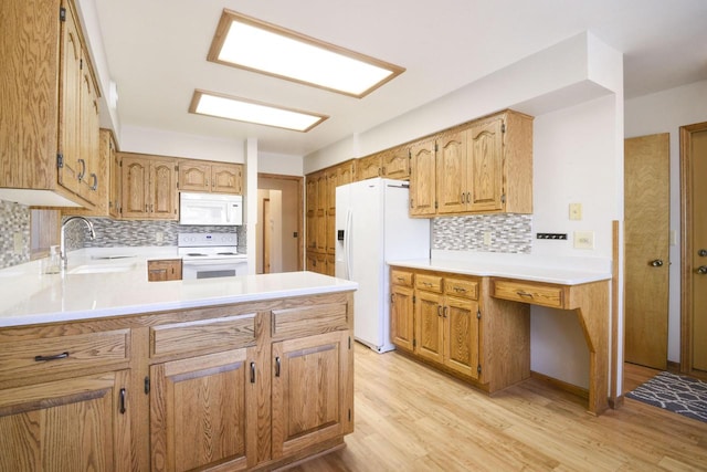
<svg viewBox="0 0 707 472">
<path fill-rule="evenodd" d="M 306 155 L 362 133 L 582 31 L 624 53 L 626 98 L 707 80 L 707 0 L 95 0 L 95 7 L 122 126 L 255 137 L 258 150 L 274 154 Z M 207 62 L 224 8 L 407 72 L 358 99 Z M 194 88 L 330 118 L 303 134 L 192 115 Z"/>
</svg>

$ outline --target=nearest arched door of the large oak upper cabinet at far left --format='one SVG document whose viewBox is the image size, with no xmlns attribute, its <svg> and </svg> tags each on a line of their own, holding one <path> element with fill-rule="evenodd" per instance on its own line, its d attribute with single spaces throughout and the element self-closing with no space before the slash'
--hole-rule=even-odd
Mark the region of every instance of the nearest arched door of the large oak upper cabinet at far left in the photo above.
<svg viewBox="0 0 707 472">
<path fill-rule="evenodd" d="M 66 8 L 66 21 L 62 22 L 61 88 L 59 116 L 59 153 L 63 166 L 59 168 L 59 183 L 78 193 L 81 159 L 81 61 L 82 48 L 77 20 L 73 8 Z"/>
</svg>

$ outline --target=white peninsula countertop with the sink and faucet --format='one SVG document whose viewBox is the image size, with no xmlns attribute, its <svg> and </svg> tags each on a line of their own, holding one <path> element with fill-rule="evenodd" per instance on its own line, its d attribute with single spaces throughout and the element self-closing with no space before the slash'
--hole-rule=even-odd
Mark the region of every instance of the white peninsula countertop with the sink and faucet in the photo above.
<svg viewBox="0 0 707 472">
<path fill-rule="evenodd" d="M 175 256 L 176 250 L 169 248 L 80 250 L 68 254 L 68 269 L 61 274 L 43 273 L 46 260 L 0 270 L 0 327 L 275 300 L 358 287 L 356 282 L 314 272 L 147 281 L 148 260 Z"/>
</svg>

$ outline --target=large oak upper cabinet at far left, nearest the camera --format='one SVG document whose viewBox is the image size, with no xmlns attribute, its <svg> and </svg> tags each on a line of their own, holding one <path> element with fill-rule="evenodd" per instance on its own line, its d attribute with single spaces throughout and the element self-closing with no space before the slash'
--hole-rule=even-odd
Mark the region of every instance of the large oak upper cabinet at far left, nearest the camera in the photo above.
<svg viewBox="0 0 707 472">
<path fill-rule="evenodd" d="M 91 206 L 98 97 L 71 0 L 7 0 L 0 18 L 0 188 L 51 190 Z M 48 198 L 49 204 L 57 199 Z"/>
</svg>

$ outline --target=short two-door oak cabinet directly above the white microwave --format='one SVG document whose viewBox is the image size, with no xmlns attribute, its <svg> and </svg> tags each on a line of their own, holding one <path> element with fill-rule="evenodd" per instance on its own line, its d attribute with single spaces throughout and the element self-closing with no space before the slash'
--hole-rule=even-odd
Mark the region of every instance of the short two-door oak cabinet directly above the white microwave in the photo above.
<svg viewBox="0 0 707 472">
<path fill-rule="evenodd" d="M 243 193 L 243 165 L 182 159 L 179 189 L 214 193 Z"/>
</svg>

